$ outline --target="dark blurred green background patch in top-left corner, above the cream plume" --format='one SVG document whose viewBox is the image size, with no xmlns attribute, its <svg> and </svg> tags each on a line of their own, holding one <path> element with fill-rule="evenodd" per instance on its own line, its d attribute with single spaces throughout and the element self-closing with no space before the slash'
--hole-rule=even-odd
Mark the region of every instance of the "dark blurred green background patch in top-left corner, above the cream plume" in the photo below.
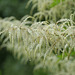
<svg viewBox="0 0 75 75">
<path fill-rule="evenodd" d="M 30 14 L 31 6 L 25 8 L 29 0 L 0 0 L 0 17 L 15 16 L 21 19 Z"/>
</svg>

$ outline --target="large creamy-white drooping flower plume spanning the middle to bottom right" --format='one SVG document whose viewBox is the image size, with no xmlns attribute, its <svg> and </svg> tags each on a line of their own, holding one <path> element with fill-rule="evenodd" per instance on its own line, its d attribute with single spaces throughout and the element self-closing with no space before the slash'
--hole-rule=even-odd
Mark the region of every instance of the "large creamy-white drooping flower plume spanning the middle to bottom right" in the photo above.
<svg viewBox="0 0 75 75">
<path fill-rule="evenodd" d="M 7 35 L 3 46 L 7 46 L 22 62 L 34 63 L 35 71 L 46 69 L 52 75 L 74 75 L 75 60 L 69 58 L 75 52 L 74 16 L 61 19 L 56 24 L 28 21 L 31 26 L 26 26 L 28 18 L 22 21 L 13 17 L 0 19 L 0 35 Z M 64 59 L 60 60 L 59 56 Z"/>
</svg>

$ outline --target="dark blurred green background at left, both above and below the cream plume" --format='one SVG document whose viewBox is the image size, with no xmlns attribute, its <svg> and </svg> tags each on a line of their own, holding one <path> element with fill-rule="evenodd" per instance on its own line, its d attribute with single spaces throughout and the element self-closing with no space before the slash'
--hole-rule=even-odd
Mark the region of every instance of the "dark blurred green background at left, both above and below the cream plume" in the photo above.
<svg viewBox="0 0 75 75">
<path fill-rule="evenodd" d="M 30 14 L 31 5 L 26 9 L 28 0 L 0 0 L 0 17 L 14 16 L 21 19 Z M 0 39 L 0 46 L 2 40 Z M 0 75 L 33 75 L 33 66 L 22 64 L 6 48 L 0 47 Z"/>
</svg>

